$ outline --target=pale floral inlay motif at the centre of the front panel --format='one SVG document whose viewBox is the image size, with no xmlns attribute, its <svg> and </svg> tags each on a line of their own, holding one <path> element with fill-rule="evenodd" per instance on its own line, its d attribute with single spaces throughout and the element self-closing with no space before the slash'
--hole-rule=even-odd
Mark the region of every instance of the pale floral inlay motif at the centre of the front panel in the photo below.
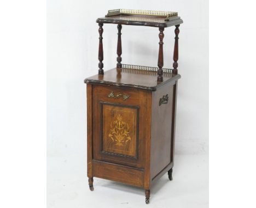
<svg viewBox="0 0 256 208">
<path fill-rule="evenodd" d="M 108 137 L 115 145 L 124 146 L 131 140 L 129 129 L 129 125 L 122 120 L 121 114 L 118 114 L 117 119 L 110 123 Z"/>
</svg>

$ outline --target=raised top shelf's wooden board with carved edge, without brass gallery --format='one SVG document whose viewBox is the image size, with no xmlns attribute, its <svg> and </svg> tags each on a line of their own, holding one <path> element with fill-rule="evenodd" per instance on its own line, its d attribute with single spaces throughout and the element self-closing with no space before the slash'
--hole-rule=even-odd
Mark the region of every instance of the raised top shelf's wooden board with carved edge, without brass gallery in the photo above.
<svg viewBox="0 0 256 208">
<path fill-rule="evenodd" d="M 140 15 L 118 15 L 110 17 L 101 17 L 96 20 L 97 23 L 111 23 L 118 25 L 134 25 L 134 26 L 149 26 L 149 27 L 171 27 L 180 25 L 183 20 L 179 16 L 174 16 L 168 22 L 165 18 L 140 16 Z"/>
</svg>

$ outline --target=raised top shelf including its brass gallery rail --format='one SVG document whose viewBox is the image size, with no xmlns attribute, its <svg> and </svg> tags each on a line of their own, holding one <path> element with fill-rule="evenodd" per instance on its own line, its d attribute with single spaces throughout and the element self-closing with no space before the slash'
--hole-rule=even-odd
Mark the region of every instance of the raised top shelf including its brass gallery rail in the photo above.
<svg viewBox="0 0 256 208">
<path fill-rule="evenodd" d="M 183 23 L 177 12 L 135 9 L 109 10 L 105 17 L 98 18 L 96 22 L 149 27 L 171 27 Z"/>
</svg>

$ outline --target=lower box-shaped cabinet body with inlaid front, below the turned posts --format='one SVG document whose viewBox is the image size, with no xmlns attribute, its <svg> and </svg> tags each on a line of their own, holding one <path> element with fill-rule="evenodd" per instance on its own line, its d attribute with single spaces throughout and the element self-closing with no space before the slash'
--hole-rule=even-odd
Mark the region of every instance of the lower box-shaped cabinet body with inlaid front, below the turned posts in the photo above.
<svg viewBox="0 0 256 208">
<path fill-rule="evenodd" d="M 150 90 L 104 83 L 106 74 L 87 85 L 89 187 L 94 191 L 94 177 L 141 187 L 148 204 L 154 183 L 163 175 L 172 180 L 180 76 L 166 77 Z M 125 72 L 122 79 L 130 76 Z M 141 82 L 150 77 L 141 76 Z"/>
</svg>

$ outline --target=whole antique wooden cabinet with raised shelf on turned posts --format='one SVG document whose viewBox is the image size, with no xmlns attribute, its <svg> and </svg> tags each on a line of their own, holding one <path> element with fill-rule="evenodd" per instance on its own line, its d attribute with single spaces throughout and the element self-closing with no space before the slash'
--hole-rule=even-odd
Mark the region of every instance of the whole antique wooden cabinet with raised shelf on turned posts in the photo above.
<svg viewBox="0 0 256 208">
<path fill-rule="evenodd" d="M 150 187 L 168 172 L 172 180 L 178 74 L 177 13 L 109 10 L 96 21 L 100 28 L 98 74 L 87 84 L 88 178 L 98 177 L 142 187 L 149 203 Z M 117 66 L 103 70 L 103 23 L 118 25 Z M 121 63 L 122 25 L 158 27 L 158 68 Z M 164 65 L 164 28 L 175 26 L 173 69 Z"/>
</svg>

